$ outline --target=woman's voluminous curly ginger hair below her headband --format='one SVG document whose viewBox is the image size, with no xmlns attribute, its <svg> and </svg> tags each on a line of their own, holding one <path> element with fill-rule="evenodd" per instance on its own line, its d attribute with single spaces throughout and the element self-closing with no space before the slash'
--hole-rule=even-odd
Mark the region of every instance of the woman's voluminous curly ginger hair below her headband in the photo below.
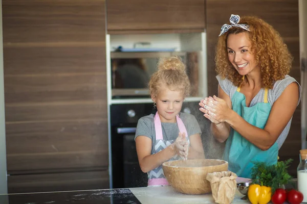
<svg viewBox="0 0 307 204">
<path fill-rule="evenodd" d="M 266 21 L 255 16 L 240 18 L 240 24 L 248 24 L 250 32 L 232 27 L 218 38 L 215 53 L 216 72 L 223 79 L 227 78 L 235 86 L 243 82 L 242 75 L 232 66 L 228 59 L 227 39 L 230 34 L 246 32 L 251 41 L 251 52 L 259 63 L 262 88 L 272 89 L 274 82 L 284 79 L 290 72 L 292 56 L 279 33 Z"/>
</svg>

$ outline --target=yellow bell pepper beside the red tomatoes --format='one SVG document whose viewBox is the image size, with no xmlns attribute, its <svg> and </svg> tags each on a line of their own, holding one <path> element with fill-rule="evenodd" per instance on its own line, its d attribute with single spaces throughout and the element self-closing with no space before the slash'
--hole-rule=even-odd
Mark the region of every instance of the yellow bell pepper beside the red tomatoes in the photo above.
<svg viewBox="0 0 307 204">
<path fill-rule="evenodd" d="M 267 204 L 271 200 L 271 187 L 252 184 L 248 188 L 248 199 L 252 204 Z"/>
</svg>

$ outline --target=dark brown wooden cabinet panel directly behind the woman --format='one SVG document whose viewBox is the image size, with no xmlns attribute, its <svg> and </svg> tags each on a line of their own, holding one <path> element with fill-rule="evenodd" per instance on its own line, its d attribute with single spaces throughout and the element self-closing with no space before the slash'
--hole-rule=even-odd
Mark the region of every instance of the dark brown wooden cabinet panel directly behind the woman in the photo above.
<svg viewBox="0 0 307 204">
<path fill-rule="evenodd" d="M 209 95 L 217 94 L 217 80 L 215 79 L 214 47 L 217 36 L 220 34 L 224 23 L 229 24 L 231 14 L 256 15 L 270 23 L 282 36 L 284 42 L 294 57 L 290 75 L 300 82 L 299 62 L 299 25 L 297 0 L 251 0 L 227 1 L 207 0 L 207 61 L 208 61 L 208 92 Z M 296 109 L 288 138 L 279 150 L 280 160 L 292 158 L 290 172 L 296 176 L 296 167 L 299 163 L 299 149 L 301 148 L 301 113 L 300 106 Z"/>
</svg>

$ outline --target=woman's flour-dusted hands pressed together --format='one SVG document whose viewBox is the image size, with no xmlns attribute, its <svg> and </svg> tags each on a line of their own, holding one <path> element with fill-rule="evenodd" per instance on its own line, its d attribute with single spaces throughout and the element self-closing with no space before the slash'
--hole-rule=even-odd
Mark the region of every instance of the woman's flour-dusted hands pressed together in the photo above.
<svg viewBox="0 0 307 204">
<path fill-rule="evenodd" d="M 200 111 L 205 113 L 204 116 L 215 124 L 225 122 L 229 118 L 231 109 L 222 98 L 218 98 L 215 95 L 210 96 L 201 100 L 199 105 L 202 107 Z"/>
</svg>

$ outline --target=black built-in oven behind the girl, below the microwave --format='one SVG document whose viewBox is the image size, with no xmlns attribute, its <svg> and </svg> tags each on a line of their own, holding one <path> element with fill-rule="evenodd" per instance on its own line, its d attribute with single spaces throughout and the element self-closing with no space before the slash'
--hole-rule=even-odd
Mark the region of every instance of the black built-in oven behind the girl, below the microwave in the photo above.
<svg viewBox="0 0 307 204">
<path fill-rule="evenodd" d="M 201 114 L 199 102 L 184 102 L 182 112 Z M 150 113 L 156 114 L 153 103 L 113 104 L 111 113 L 111 155 L 113 188 L 147 186 L 147 173 L 141 171 L 135 143 L 138 120 Z"/>
</svg>

